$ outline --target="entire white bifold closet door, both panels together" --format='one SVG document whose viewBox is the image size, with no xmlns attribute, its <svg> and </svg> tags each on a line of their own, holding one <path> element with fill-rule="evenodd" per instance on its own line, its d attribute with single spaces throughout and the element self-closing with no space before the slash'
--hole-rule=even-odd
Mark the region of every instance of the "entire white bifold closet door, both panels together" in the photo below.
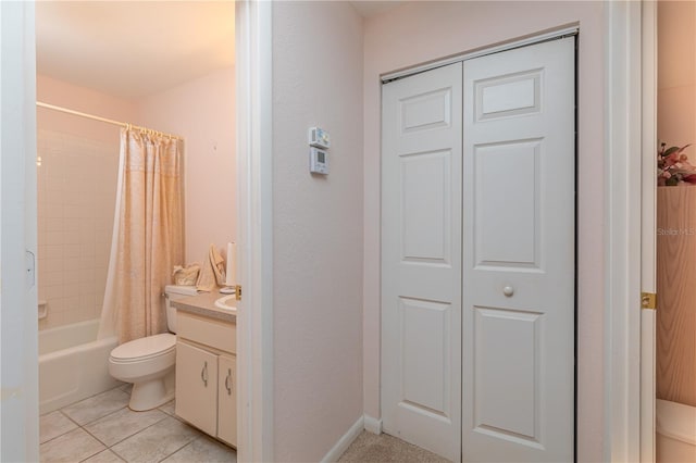
<svg viewBox="0 0 696 463">
<path fill-rule="evenodd" d="M 384 85 L 387 433 L 573 460 L 574 92 L 573 38 Z"/>
</svg>

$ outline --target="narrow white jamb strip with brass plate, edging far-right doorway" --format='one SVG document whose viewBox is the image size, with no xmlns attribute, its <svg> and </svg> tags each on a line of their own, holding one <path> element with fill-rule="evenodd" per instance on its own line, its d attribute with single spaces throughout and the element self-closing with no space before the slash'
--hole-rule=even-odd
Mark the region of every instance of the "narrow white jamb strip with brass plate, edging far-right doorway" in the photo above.
<svg viewBox="0 0 696 463">
<path fill-rule="evenodd" d="M 657 292 L 657 2 L 643 2 L 643 178 L 641 228 L 641 286 Z M 655 323 L 656 312 L 641 314 L 641 462 L 655 462 Z"/>
</svg>

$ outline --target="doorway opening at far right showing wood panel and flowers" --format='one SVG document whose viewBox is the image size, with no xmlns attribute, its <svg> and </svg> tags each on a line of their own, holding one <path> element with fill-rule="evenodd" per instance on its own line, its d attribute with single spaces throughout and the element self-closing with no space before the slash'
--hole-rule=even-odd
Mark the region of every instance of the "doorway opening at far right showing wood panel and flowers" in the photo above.
<svg viewBox="0 0 696 463">
<path fill-rule="evenodd" d="M 645 188 L 655 193 L 657 149 L 657 193 L 650 212 L 657 212 L 651 271 L 658 301 L 650 312 L 655 313 L 655 461 L 660 463 L 696 460 L 696 263 L 691 259 L 696 253 L 696 5 L 658 2 L 652 14 L 657 16 L 657 117 L 651 135 L 657 143 L 646 147 L 652 162 L 644 170 L 652 174 Z"/>
</svg>

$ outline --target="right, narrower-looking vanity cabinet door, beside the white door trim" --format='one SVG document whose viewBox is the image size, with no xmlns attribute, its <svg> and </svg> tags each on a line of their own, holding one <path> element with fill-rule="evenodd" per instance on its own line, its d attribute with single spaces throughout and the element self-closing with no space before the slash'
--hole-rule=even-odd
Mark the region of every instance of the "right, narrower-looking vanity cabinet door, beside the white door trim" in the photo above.
<svg viewBox="0 0 696 463">
<path fill-rule="evenodd" d="M 221 355 L 217 365 L 217 438 L 237 447 L 237 361 Z"/>
</svg>

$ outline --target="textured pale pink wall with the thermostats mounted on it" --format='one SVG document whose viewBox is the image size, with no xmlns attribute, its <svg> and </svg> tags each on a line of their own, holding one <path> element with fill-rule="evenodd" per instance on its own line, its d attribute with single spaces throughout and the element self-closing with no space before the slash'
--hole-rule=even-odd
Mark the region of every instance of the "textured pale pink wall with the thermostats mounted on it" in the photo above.
<svg viewBox="0 0 696 463">
<path fill-rule="evenodd" d="M 274 448 L 320 461 L 362 416 L 362 21 L 273 4 Z M 307 130 L 331 133 L 309 173 Z"/>
</svg>

